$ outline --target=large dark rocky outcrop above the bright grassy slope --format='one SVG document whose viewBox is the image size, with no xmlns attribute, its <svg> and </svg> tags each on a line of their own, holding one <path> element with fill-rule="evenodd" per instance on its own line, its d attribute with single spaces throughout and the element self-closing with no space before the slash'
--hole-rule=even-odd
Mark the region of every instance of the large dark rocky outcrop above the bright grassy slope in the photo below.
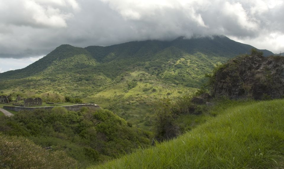
<svg viewBox="0 0 284 169">
<path fill-rule="evenodd" d="M 246 55 L 231 59 L 212 77 L 212 96 L 275 99 L 284 96 L 284 57 Z"/>
</svg>

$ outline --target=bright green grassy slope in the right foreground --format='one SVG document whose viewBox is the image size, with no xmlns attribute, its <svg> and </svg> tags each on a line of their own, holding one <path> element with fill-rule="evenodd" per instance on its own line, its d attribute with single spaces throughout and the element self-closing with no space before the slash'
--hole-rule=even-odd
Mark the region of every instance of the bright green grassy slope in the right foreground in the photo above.
<svg viewBox="0 0 284 169">
<path fill-rule="evenodd" d="M 172 141 L 91 168 L 283 167 L 284 100 L 228 107 Z"/>
</svg>

